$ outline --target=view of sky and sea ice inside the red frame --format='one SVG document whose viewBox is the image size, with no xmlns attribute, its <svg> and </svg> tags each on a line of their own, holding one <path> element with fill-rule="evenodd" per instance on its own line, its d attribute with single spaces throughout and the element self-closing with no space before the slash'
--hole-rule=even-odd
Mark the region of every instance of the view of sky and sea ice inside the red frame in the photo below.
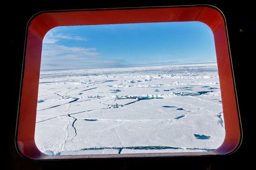
<svg viewBox="0 0 256 170">
<path fill-rule="evenodd" d="M 207 25 L 60 26 L 43 39 L 35 131 L 40 151 L 213 151 L 224 137 Z"/>
</svg>

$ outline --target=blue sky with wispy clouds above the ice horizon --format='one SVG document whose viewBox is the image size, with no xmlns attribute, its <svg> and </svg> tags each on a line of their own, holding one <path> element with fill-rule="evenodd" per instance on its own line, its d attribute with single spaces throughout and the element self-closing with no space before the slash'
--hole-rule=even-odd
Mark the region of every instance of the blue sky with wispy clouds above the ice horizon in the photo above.
<svg viewBox="0 0 256 170">
<path fill-rule="evenodd" d="M 41 70 L 216 63 L 201 22 L 59 26 L 43 39 Z"/>
</svg>

